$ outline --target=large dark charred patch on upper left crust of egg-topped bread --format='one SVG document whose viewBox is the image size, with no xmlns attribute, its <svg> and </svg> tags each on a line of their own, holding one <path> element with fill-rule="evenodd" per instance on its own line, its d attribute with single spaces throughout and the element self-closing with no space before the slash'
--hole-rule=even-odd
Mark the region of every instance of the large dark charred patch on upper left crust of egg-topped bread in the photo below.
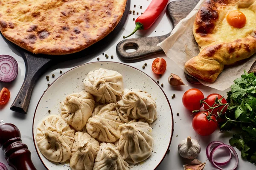
<svg viewBox="0 0 256 170">
<path fill-rule="evenodd" d="M 212 0 L 207 0 L 204 6 L 198 11 L 195 24 L 198 26 L 195 32 L 205 36 L 211 34 L 214 30 L 215 23 L 218 20 L 217 6 Z"/>
</svg>

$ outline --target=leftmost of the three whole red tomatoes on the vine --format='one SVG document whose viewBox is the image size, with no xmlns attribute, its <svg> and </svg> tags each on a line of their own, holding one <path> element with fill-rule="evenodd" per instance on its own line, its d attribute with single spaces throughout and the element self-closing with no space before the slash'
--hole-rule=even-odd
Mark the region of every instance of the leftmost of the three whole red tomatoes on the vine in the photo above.
<svg viewBox="0 0 256 170">
<path fill-rule="evenodd" d="M 197 88 L 191 88 L 183 94 L 182 103 L 189 111 L 199 110 L 201 99 L 204 99 L 204 94 Z"/>
</svg>

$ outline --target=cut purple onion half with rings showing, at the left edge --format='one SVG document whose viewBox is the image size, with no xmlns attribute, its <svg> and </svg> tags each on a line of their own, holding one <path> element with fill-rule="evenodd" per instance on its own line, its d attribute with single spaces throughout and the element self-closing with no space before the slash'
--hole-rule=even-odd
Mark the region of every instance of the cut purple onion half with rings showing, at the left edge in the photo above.
<svg viewBox="0 0 256 170">
<path fill-rule="evenodd" d="M 0 82 L 12 82 L 18 75 L 18 63 L 9 55 L 0 55 Z"/>
</svg>

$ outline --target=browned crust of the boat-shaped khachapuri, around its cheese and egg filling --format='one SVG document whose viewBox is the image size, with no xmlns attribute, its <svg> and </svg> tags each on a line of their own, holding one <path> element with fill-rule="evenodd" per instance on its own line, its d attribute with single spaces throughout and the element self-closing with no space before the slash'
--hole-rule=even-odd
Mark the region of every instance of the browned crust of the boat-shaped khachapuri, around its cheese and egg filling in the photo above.
<svg viewBox="0 0 256 170">
<path fill-rule="evenodd" d="M 256 28 L 245 37 L 230 42 L 216 40 L 216 27 L 222 24 L 227 11 L 248 8 L 255 0 L 206 0 L 198 11 L 194 23 L 194 37 L 200 53 L 186 62 L 192 76 L 214 82 L 225 65 L 232 65 L 256 52 Z M 255 4 L 254 4 L 255 5 Z"/>
</svg>

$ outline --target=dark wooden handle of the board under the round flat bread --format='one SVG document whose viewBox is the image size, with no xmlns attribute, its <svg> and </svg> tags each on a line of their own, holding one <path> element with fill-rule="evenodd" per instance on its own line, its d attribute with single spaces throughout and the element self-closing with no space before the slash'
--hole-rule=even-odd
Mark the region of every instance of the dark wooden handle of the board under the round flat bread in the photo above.
<svg viewBox="0 0 256 170">
<path fill-rule="evenodd" d="M 52 65 L 54 60 L 34 57 L 32 54 L 25 51 L 21 53 L 21 55 L 23 55 L 26 65 L 25 80 L 10 109 L 12 111 L 26 114 L 29 108 L 29 102 L 35 82 L 39 77 L 41 77 L 41 74 L 43 74 L 44 71 Z M 24 55 L 29 55 L 29 57 Z"/>
</svg>

